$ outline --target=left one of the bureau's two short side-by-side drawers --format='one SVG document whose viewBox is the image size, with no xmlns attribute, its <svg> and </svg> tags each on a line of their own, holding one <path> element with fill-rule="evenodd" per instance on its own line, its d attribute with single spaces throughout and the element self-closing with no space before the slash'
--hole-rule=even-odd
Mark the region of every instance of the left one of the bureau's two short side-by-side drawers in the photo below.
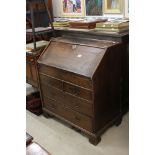
<svg viewBox="0 0 155 155">
<path fill-rule="evenodd" d="M 62 81 L 52 78 L 52 77 L 49 77 L 49 76 L 46 76 L 46 75 L 43 75 L 43 74 L 40 74 L 40 83 L 49 85 L 51 87 L 58 88 L 60 90 L 62 90 L 62 86 L 63 86 Z"/>
</svg>

